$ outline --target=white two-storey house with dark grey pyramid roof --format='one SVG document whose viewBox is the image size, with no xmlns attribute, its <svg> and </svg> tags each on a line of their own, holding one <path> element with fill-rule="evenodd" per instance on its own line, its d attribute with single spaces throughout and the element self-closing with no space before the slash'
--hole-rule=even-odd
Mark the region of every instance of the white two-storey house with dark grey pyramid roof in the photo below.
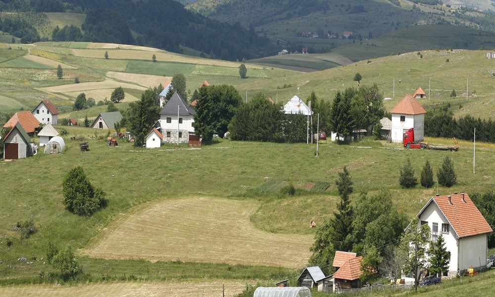
<svg viewBox="0 0 495 297">
<path fill-rule="evenodd" d="M 160 128 L 165 143 L 188 143 L 189 135 L 194 134 L 196 111 L 177 94 L 172 95 L 160 111 Z"/>
</svg>

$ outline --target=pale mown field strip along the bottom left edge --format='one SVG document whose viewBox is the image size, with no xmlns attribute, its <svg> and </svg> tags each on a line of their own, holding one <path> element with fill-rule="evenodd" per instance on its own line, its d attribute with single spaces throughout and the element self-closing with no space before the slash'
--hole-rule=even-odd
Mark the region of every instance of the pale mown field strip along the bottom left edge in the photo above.
<svg viewBox="0 0 495 297">
<path fill-rule="evenodd" d="M 246 287 L 245 281 L 99 283 L 79 286 L 31 285 L 0 288 L 0 296 L 11 297 L 234 297 Z"/>
</svg>

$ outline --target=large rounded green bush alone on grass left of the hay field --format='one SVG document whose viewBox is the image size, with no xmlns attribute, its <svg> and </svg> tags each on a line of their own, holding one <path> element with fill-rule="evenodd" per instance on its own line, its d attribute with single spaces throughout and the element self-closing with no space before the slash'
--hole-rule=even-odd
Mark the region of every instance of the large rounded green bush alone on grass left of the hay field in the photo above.
<svg viewBox="0 0 495 297">
<path fill-rule="evenodd" d="M 72 168 L 62 181 L 63 203 L 77 215 L 89 216 L 106 205 L 105 193 L 91 185 L 81 166 Z"/>
</svg>

